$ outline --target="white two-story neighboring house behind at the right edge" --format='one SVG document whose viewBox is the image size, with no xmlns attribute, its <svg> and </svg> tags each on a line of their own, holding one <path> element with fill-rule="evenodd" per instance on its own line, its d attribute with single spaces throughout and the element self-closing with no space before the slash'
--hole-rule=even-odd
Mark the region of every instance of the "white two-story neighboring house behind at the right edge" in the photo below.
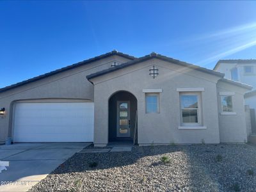
<svg viewBox="0 0 256 192">
<path fill-rule="evenodd" d="M 244 102 L 251 108 L 252 132 L 256 134 L 256 60 L 220 60 L 214 69 L 225 74 L 225 78 L 253 86 L 244 94 Z"/>
</svg>

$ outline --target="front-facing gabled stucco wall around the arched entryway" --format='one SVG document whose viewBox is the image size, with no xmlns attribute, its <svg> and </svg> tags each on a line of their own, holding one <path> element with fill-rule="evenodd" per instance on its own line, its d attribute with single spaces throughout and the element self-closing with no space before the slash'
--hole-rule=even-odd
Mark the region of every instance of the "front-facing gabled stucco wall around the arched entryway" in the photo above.
<svg viewBox="0 0 256 192">
<path fill-rule="evenodd" d="M 148 69 L 155 65 L 159 76 L 153 79 Z M 138 100 L 138 143 L 219 143 L 216 83 L 219 77 L 180 67 L 161 60 L 148 60 L 92 79 L 95 84 L 95 134 L 97 146 L 108 143 L 108 99 L 120 90 L 131 92 Z M 160 88 L 160 113 L 145 113 L 143 89 Z M 204 130 L 180 130 L 180 104 L 177 88 L 204 88 L 202 120 Z"/>
</svg>

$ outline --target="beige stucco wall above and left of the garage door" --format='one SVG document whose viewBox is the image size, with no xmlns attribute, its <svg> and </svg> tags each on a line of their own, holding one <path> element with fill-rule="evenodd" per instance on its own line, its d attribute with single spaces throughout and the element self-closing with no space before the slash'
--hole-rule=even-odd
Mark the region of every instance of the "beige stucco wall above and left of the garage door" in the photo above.
<svg viewBox="0 0 256 192">
<path fill-rule="evenodd" d="M 54 98 L 93 100 L 93 84 L 86 79 L 86 76 L 109 68 L 113 61 L 124 63 L 129 60 L 120 56 L 110 56 L 0 93 L 0 108 L 6 109 L 6 115 L 0 118 L 0 141 L 12 136 L 12 109 L 16 100 Z"/>
</svg>

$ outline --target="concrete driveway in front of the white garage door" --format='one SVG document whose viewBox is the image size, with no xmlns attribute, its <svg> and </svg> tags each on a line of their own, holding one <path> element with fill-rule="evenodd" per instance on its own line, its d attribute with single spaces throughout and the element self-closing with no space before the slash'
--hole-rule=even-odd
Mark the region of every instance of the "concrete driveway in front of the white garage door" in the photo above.
<svg viewBox="0 0 256 192">
<path fill-rule="evenodd" d="M 17 143 L 0 145 L 0 161 L 10 166 L 0 173 L 0 191 L 28 191 L 90 143 Z M 12 183 L 10 183 L 12 182 Z"/>
</svg>

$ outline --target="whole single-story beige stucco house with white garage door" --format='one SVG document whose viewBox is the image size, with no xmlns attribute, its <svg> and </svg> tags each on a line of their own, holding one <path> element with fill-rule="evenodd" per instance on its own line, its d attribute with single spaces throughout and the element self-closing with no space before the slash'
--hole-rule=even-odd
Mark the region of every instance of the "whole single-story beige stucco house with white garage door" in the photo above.
<svg viewBox="0 0 256 192">
<path fill-rule="evenodd" d="M 154 52 L 108 52 L 1 88 L 0 141 L 243 143 L 252 87 L 223 76 Z"/>
</svg>

